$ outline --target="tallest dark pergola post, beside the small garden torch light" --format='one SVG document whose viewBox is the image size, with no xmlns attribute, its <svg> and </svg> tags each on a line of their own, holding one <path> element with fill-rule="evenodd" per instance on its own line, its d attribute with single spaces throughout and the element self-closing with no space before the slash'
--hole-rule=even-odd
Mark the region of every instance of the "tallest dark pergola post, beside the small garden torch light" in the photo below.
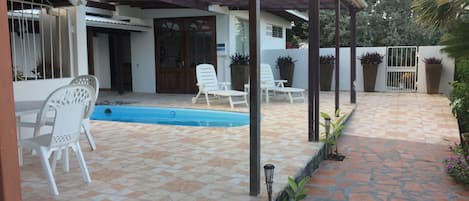
<svg viewBox="0 0 469 201">
<path fill-rule="evenodd" d="M 256 196 L 261 188 L 261 122 L 260 122 L 260 0 L 249 0 L 249 194 Z"/>
</svg>

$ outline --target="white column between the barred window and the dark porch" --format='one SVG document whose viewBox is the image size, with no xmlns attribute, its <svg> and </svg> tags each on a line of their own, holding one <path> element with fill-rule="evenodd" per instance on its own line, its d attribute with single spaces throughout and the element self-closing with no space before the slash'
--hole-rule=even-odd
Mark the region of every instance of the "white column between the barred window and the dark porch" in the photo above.
<svg viewBox="0 0 469 201">
<path fill-rule="evenodd" d="M 71 57 L 73 76 L 88 74 L 88 48 L 85 5 L 70 8 Z"/>
</svg>

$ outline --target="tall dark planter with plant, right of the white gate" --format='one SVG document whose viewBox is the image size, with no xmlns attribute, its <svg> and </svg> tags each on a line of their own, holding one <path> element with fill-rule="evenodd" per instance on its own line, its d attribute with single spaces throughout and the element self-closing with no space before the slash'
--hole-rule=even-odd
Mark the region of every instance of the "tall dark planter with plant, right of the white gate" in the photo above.
<svg viewBox="0 0 469 201">
<path fill-rule="evenodd" d="M 427 93 L 437 94 L 439 92 L 441 77 L 441 59 L 429 57 L 423 59 L 425 63 L 425 80 L 427 81 Z"/>
</svg>

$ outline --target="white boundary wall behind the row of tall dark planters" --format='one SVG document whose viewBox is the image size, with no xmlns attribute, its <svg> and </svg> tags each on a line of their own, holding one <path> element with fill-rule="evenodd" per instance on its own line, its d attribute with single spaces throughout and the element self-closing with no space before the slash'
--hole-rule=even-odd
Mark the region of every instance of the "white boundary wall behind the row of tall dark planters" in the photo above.
<svg viewBox="0 0 469 201">
<path fill-rule="evenodd" d="M 419 47 L 419 63 L 418 63 L 418 89 L 419 93 L 426 93 L 425 69 L 423 58 L 436 57 L 443 59 L 443 71 L 440 79 L 440 93 L 449 94 L 451 87 L 448 84 L 453 81 L 455 62 L 446 53 L 441 52 L 442 46 L 421 46 Z M 386 47 L 358 47 L 357 48 L 357 91 L 363 91 L 363 67 L 358 57 L 366 52 L 378 52 L 385 55 L 383 63 L 378 66 L 378 75 L 376 78 L 376 91 L 385 92 L 386 86 Z M 293 87 L 308 88 L 308 49 L 278 49 L 263 50 L 261 62 L 272 66 L 275 76 L 278 78 L 278 68 L 276 68 L 276 60 L 279 56 L 291 56 L 295 63 L 295 72 L 293 79 Z M 335 48 L 321 48 L 320 55 L 335 55 Z M 350 48 L 340 48 L 340 90 L 350 90 Z M 334 72 L 335 75 L 335 72 Z M 335 78 L 332 79 L 332 89 L 335 88 Z"/>
</svg>

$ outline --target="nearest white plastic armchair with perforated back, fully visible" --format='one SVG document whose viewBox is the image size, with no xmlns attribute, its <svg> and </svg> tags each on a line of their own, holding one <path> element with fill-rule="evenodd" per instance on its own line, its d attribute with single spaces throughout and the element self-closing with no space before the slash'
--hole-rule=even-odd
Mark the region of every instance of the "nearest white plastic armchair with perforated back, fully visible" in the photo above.
<svg viewBox="0 0 469 201">
<path fill-rule="evenodd" d="M 75 151 L 80 165 L 83 179 L 91 182 L 91 177 L 81 151 L 79 137 L 83 117 L 94 99 L 94 90 L 83 85 L 68 85 L 55 90 L 46 99 L 36 118 L 34 137 L 20 141 L 22 147 L 36 151 L 41 159 L 44 174 L 50 186 L 50 192 L 58 195 L 49 158 L 54 152 L 64 152 L 64 166 L 68 165 L 68 149 Z M 49 124 L 48 114 L 54 114 L 52 124 Z M 41 128 L 51 126 L 50 133 L 42 134 Z"/>
</svg>

